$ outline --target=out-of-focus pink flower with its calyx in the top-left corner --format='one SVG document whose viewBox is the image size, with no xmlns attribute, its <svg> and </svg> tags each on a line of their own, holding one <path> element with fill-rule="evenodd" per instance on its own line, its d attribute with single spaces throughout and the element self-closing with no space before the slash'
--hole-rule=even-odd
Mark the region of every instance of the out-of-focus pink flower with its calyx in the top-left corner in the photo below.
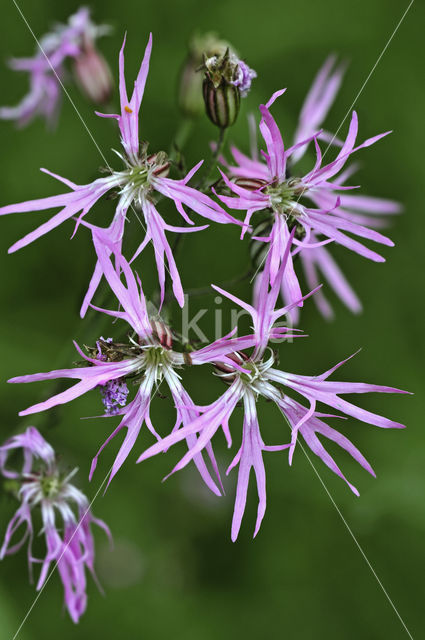
<svg viewBox="0 0 425 640">
<path fill-rule="evenodd" d="M 32 58 L 12 59 L 9 63 L 12 69 L 29 74 L 30 89 L 17 106 L 1 107 L 0 119 L 16 120 L 19 126 L 24 126 L 40 115 L 48 124 L 54 124 L 61 99 L 60 81 L 66 77 L 64 65 L 68 58 L 75 61 L 81 79 L 84 75 L 81 83 L 85 81 L 87 85 L 90 76 L 93 96 L 105 97 L 105 92 L 109 95 L 109 69 L 94 48 L 95 39 L 108 31 L 108 27 L 93 24 L 89 10 L 83 7 L 69 18 L 68 24 L 57 25 L 54 31 L 43 36 L 41 50 Z M 96 87 L 88 65 L 96 66 Z M 99 75 L 103 79 L 102 91 Z"/>
</svg>

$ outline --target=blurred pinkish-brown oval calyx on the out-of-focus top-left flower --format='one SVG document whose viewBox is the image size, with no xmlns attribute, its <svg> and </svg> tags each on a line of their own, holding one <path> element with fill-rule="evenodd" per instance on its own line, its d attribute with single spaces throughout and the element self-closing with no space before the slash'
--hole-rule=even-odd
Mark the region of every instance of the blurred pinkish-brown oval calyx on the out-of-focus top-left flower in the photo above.
<svg viewBox="0 0 425 640">
<path fill-rule="evenodd" d="M 88 43 L 74 60 L 74 74 L 82 93 L 95 104 L 108 102 L 113 89 L 111 70 L 105 58 Z"/>
</svg>

